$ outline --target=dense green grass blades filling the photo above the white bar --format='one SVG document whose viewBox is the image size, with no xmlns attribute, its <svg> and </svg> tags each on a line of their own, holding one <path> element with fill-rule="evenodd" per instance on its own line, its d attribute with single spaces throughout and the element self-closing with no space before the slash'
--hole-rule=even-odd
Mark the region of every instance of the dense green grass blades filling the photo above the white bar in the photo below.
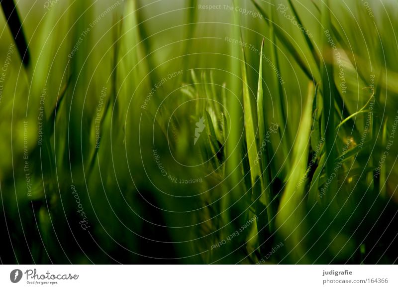
<svg viewBox="0 0 398 289">
<path fill-rule="evenodd" d="M 397 263 L 397 5 L 112 4 L 1 20 L 2 263 Z"/>
</svg>

